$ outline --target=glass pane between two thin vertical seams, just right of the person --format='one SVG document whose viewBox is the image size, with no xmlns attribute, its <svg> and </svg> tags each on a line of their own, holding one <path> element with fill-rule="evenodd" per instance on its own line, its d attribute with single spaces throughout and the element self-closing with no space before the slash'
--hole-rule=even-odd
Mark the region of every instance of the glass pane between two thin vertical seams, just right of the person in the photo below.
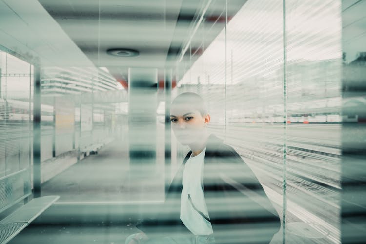
<svg viewBox="0 0 366 244">
<path fill-rule="evenodd" d="M 252 169 L 282 219 L 282 2 L 248 1 L 227 26 L 227 142 Z M 270 223 L 263 229 L 273 231 Z M 277 229 L 278 230 L 278 229 Z M 277 232 L 277 230 L 275 232 Z M 262 232 L 264 233 L 264 232 Z M 273 232 L 272 232 L 273 235 Z M 257 237 L 260 240 L 261 237 Z M 278 231 L 274 242 L 282 241 Z"/>
</svg>

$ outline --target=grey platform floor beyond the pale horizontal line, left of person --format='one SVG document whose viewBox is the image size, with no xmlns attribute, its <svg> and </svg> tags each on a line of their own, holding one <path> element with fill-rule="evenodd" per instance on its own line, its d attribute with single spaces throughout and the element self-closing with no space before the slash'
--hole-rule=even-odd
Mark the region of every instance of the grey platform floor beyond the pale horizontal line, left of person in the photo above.
<svg viewBox="0 0 366 244">
<path fill-rule="evenodd" d="M 42 195 L 59 195 L 58 203 L 163 200 L 161 163 L 130 165 L 128 145 L 113 141 L 42 184 Z"/>
</svg>

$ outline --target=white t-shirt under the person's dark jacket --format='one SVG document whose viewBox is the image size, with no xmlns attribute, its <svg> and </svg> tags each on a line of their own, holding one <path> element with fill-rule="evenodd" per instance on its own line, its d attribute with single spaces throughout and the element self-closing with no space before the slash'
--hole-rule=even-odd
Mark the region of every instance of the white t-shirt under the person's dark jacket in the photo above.
<svg viewBox="0 0 366 244">
<path fill-rule="evenodd" d="M 191 154 L 191 157 L 184 165 L 183 171 L 181 220 L 194 235 L 210 235 L 213 233 L 211 223 L 205 219 L 209 219 L 204 200 L 202 179 L 205 153 L 206 148 L 197 156 L 192 157 L 193 154 Z"/>
</svg>

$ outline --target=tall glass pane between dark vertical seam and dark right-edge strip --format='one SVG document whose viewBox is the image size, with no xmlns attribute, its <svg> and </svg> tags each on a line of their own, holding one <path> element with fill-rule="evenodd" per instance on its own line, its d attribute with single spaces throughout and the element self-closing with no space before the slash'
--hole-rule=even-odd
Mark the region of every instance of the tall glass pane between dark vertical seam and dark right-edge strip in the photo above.
<svg viewBox="0 0 366 244">
<path fill-rule="evenodd" d="M 340 1 L 286 1 L 286 243 L 339 243 Z"/>
</svg>

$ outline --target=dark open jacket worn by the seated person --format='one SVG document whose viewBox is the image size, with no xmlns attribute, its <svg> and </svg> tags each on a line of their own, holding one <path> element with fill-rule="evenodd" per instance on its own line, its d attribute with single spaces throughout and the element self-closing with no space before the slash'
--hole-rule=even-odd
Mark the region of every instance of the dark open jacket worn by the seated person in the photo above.
<svg viewBox="0 0 366 244">
<path fill-rule="evenodd" d="M 146 234 L 191 233 L 180 220 L 183 160 L 158 216 L 137 227 Z M 214 135 L 207 140 L 203 192 L 216 243 L 269 243 L 280 219 L 251 169 L 230 146 Z"/>
</svg>

